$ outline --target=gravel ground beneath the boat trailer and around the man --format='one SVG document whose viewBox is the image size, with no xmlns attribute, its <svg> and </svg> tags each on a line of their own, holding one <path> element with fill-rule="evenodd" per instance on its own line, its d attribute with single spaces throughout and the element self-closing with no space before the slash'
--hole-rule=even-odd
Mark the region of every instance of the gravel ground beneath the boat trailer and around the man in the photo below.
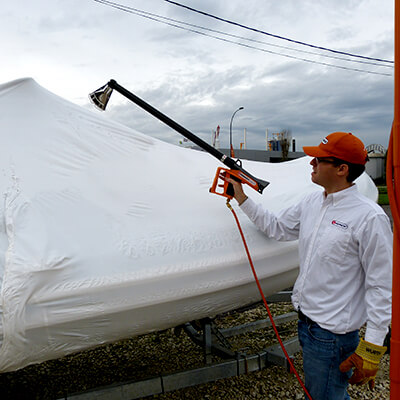
<svg viewBox="0 0 400 400">
<path fill-rule="evenodd" d="M 289 303 L 271 305 L 273 315 L 289 311 L 293 311 Z M 232 312 L 218 317 L 215 323 L 225 328 L 266 318 L 265 309 L 258 306 L 245 312 Z M 293 321 L 279 327 L 281 337 L 287 339 L 295 336 L 296 325 L 296 321 Z M 276 343 L 271 328 L 229 340 L 235 350 L 245 348 L 248 354 Z M 1 374 L 0 399 L 58 399 L 66 394 L 99 386 L 198 367 L 203 365 L 202 360 L 201 349 L 186 334 L 177 337 L 173 330 L 167 330 Z M 303 378 L 301 353 L 295 357 L 295 367 Z M 375 390 L 370 392 L 365 387 L 352 387 L 350 395 L 352 399 L 389 399 L 388 355 L 384 356 Z M 294 374 L 289 374 L 282 367 L 272 366 L 260 372 L 221 379 L 146 399 L 289 400 L 303 399 L 303 396 Z"/>
</svg>

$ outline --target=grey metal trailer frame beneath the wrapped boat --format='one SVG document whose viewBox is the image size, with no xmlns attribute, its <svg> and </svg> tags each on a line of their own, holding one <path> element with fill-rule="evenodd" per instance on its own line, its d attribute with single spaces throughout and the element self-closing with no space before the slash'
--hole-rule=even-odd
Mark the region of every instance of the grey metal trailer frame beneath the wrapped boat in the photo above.
<svg viewBox="0 0 400 400">
<path fill-rule="evenodd" d="M 287 302 L 290 301 L 290 296 L 290 291 L 283 291 L 270 296 L 267 300 L 269 303 Z M 297 313 L 290 312 L 277 316 L 274 318 L 274 322 L 279 326 L 295 319 L 297 319 Z M 271 322 L 267 319 L 227 329 L 218 329 L 210 318 L 204 318 L 196 323 L 188 322 L 175 328 L 175 330 L 178 332 L 185 331 L 196 344 L 202 347 L 204 356 L 203 366 L 153 376 L 140 381 L 128 381 L 99 387 L 85 392 L 66 395 L 59 400 L 134 400 L 156 394 L 165 394 L 178 389 L 213 382 L 218 379 L 261 371 L 271 365 L 279 365 L 290 372 L 290 365 L 279 343 L 261 352 L 249 355 L 245 352 L 234 352 L 230 349 L 228 337 L 268 327 L 271 327 Z M 291 358 L 300 351 L 297 336 L 286 340 L 284 345 Z M 213 363 L 213 355 L 226 359 L 226 361 Z"/>
</svg>

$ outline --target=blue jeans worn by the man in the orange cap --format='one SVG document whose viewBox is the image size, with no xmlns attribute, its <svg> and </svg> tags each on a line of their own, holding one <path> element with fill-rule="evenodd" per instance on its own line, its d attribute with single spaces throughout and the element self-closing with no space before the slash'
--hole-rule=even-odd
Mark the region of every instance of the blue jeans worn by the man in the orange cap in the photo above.
<svg viewBox="0 0 400 400">
<path fill-rule="evenodd" d="M 337 335 L 314 322 L 298 321 L 298 336 L 303 350 L 305 386 L 312 399 L 350 399 L 347 386 L 352 371 L 342 373 L 339 365 L 356 350 L 358 330 Z"/>
</svg>

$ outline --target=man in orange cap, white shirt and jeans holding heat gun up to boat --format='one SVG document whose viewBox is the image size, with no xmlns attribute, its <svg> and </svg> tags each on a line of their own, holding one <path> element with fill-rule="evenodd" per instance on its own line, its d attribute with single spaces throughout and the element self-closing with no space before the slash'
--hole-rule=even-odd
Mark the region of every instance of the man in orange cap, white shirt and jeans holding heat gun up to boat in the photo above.
<svg viewBox="0 0 400 400">
<path fill-rule="evenodd" d="M 240 183 L 228 181 L 240 208 L 262 232 L 277 240 L 299 240 L 292 302 L 299 313 L 305 385 L 313 400 L 350 399 L 349 382 L 368 382 L 373 389 L 386 351 L 392 231 L 382 208 L 353 183 L 368 160 L 360 139 L 334 132 L 303 150 L 314 157 L 312 181 L 325 190 L 277 215 L 249 199 Z"/>
</svg>

